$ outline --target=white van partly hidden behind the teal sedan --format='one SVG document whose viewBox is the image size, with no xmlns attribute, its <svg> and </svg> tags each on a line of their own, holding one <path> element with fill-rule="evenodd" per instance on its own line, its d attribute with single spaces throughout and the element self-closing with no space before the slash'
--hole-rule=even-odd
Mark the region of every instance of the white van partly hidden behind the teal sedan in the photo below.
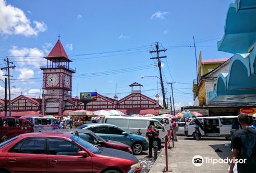
<svg viewBox="0 0 256 173">
<path fill-rule="evenodd" d="M 100 123 L 114 124 L 129 133 L 138 133 L 140 131 L 142 136 L 146 137 L 147 127 L 150 121 L 155 123 L 156 130 L 159 130 L 159 138 L 164 142 L 164 136 L 167 131 L 162 124 L 156 119 L 146 117 L 111 117 L 105 116 L 101 118 Z"/>
</svg>

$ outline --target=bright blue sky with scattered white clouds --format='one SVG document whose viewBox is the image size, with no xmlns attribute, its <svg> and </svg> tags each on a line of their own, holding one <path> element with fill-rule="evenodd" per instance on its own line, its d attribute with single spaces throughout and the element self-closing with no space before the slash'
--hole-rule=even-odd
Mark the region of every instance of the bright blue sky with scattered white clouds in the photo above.
<svg viewBox="0 0 256 173">
<path fill-rule="evenodd" d="M 4 1 L 0 0 L 0 67 L 8 56 L 11 97 L 20 94 L 38 98 L 45 64 L 44 56 L 60 41 L 76 69 L 72 95 L 97 92 L 121 99 L 131 93 L 130 84 L 142 84 L 142 93 L 161 95 L 159 69 L 150 50 L 159 42 L 166 97 L 173 85 L 175 108 L 193 105 L 196 58 L 231 57 L 217 50 L 224 35 L 226 12 L 235 0 L 173 1 Z M 6 71 L 2 71 L 6 73 Z M 2 74 L 1 73 L 1 74 Z M 4 79 L 0 74 L 0 79 Z M 0 81 L 0 98 L 4 85 Z M 168 100 L 170 104 L 170 100 Z"/>
</svg>

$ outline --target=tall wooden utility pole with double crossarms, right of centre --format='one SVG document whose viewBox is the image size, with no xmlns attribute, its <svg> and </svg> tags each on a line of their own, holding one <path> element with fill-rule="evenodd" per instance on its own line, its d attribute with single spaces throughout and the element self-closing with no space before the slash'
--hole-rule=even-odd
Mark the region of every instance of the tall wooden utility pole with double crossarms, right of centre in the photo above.
<svg viewBox="0 0 256 173">
<path fill-rule="evenodd" d="M 162 71 L 161 71 L 161 61 L 160 58 L 164 58 L 166 56 L 159 56 L 159 52 L 166 51 L 167 49 L 159 50 L 159 44 L 156 43 L 156 50 L 150 51 L 150 54 L 155 53 L 157 54 L 157 57 L 151 57 L 150 59 L 157 59 L 158 61 L 158 67 L 159 67 L 159 73 L 160 73 L 160 81 L 161 81 L 161 88 L 162 88 L 162 98 L 163 98 L 163 104 L 164 108 L 166 109 L 166 102 L 165 102 L 165 89 L 164 89 L 164 83 L 162 81 Z"/>
</svg>

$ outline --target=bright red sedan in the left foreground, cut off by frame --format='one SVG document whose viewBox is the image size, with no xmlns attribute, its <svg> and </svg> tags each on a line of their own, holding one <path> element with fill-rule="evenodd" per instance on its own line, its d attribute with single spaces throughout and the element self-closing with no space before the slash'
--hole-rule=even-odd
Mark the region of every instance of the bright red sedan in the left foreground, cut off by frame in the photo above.
<svg viewBox="0 0 256 173">
<path fill-rule="evenodd" d="M 0 144 L 0 172 L 141 172 L 130 153 L 70 133 L 26 133 Z"/>
</svg>

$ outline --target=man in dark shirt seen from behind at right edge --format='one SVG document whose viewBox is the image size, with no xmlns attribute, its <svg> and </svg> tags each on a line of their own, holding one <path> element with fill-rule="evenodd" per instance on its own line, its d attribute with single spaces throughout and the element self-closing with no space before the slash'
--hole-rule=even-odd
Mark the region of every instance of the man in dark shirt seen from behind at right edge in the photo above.
<svg viewBox="0 0 256 173">
<path fill-rule="evenodd" d="M 256 164 L 256 130 L 249 127 L 249 116 L 246 113 L 240 113 L 238 121 L 241 124 L 241 129 L 236 131 L 231 140 L 231 159 L 230 173 L 233 173 L 235 159 L 241 159 L 245 162 L 238 162 L 238 173 L 253 173 L 255 172 Z"/>
</svg>

